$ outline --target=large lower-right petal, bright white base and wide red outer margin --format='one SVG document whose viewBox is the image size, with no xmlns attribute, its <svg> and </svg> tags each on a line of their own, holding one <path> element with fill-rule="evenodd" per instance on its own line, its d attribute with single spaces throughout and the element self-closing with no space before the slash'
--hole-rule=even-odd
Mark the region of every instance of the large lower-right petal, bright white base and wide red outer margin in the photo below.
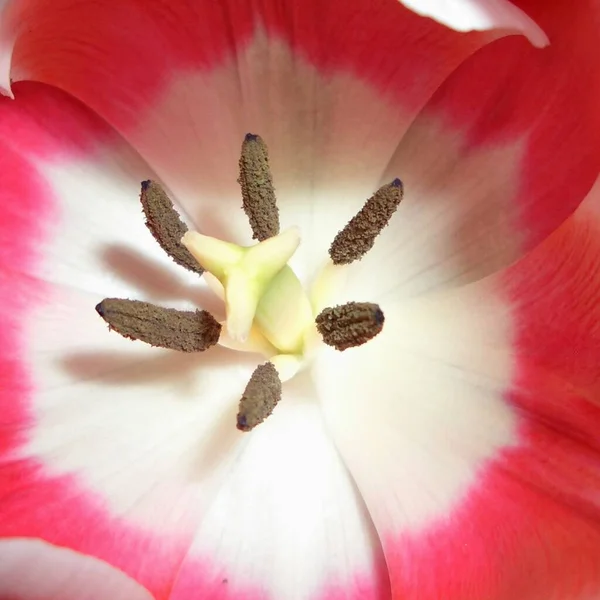
<svg viewBox="0 0 600 600">
<path fill-rule="evenodd" d="M 600 594 L 598 265 L 600 182 L 510 269 L 390 303 L 378 338 L 319 361 L 394 597 Z"/>
</svg>

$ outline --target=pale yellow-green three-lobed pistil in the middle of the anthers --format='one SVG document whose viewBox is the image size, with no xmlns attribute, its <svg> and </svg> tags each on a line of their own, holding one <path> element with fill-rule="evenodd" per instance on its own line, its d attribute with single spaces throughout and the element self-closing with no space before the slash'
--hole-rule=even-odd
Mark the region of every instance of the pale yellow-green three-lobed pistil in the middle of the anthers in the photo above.
<svg viewBox="0 0 600 600">
<path fill-rule="evenodd" d="M 300 243 L 289 229 L 244 247 L 188 232 L 182 243 L 220 284 L 226 321 L 220 343 L 266 355 L 289 379 L 298 371 L 315 315 L 300 280 L 287 262 Z M 206 275 L 205 275 L 206 277 Z"/>
</svg>

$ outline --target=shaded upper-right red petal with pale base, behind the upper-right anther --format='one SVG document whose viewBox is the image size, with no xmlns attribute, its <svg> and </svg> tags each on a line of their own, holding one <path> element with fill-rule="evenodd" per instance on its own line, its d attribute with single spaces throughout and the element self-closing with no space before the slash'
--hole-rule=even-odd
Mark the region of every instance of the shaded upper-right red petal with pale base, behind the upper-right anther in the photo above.
<svg viewBox="0 0 600 600">
<path fill-rule="evenodd" d="M 535 247 L 577 208 L 600 168 L 598 5 L 521 5 L 550 46 L 508 37 L 475 53 L 417 117 L 386 171 L 385 179 L 402 176 L 426 216 L 438 206 L 442 216 L 456 213 L 446 228 L 438 218 L 428 229 L 419 214 L 415 223 L 420 237 L 435 232 L 447 246 L 454 284 Z"/>
</svg>

